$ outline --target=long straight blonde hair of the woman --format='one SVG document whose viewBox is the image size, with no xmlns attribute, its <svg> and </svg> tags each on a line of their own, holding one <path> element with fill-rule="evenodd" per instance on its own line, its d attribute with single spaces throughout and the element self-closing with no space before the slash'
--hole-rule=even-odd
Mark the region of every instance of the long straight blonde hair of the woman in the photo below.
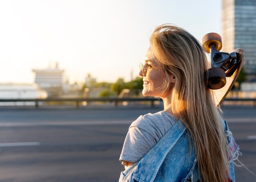
<svg viewBox="0 0 256 182">
<path fill-rule="evenodd" d="M 228 163 L 220 112 L 204 83 L 207 57 L 201 44 L 184 29 L 172 24 L 158 26 L 150 37 L 154 57 L 175 76 L 171 112 L 179 116 L 195 147 L 198 170 L 204 182 L 227 182 Z"/>
</svg>

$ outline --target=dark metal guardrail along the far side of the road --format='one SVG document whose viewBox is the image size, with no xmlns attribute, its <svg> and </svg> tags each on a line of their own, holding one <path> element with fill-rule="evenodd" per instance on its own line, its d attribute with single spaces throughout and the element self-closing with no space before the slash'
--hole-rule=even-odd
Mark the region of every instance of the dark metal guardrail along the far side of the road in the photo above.
<svg viewBox="0 0 256 182">
<path fill-rule="evenodd" d="M 151 106 L 154 106 L 154 101 L 160 101 L 162 99 L 159 98 L 65 98 L 65 99 L 60 99 L 60 98 L 47 98 L 47 99 L 0 99 L 0 102 L 34 102 L 35 107 L 38 108 L 38 102 L 74 102 L 76 107 L 79 107 L 80 102 L 95 102 L 95 101 L 108 101 L 108 102 L 114 102 L 114 106 L 117 107 L 119 102 L 124 102 L 124 101 L 150 101 Z M 255 107 L 256 106 L 256 98 L 245 98 L 245 99 L 238 99 L 238 98 L 228 98 L 224 99 L 224 101 L 251 101 L 252 105 Z"/>
</svg>

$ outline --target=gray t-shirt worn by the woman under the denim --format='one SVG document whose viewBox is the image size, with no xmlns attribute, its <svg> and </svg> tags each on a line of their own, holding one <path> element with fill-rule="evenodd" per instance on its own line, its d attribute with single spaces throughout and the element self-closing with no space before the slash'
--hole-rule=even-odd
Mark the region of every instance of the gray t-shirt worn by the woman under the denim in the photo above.
<svg viewBox="0 0 256 182">
<path fill-rule="evenodd" d="M 175 116 L 165 111 L 139 116 L 129 127 L 119 160 L 122 162 L 141 160 L 176 121 Z"/>
</svg>

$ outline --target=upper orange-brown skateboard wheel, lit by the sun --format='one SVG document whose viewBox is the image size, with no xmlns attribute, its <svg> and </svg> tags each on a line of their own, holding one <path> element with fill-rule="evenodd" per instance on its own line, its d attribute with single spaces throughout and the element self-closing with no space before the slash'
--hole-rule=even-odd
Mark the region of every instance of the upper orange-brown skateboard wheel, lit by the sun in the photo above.
<svg viewBox="0 0 256 182">
<path fill-rule="evenodd" d="M 202 39 L 204 50 L 210 53 L 211 45 L 214 45 L 215 49 L 220 51 L 222 48 L 221 37 L 218 33 L 207 33 Z"/>
</svg>

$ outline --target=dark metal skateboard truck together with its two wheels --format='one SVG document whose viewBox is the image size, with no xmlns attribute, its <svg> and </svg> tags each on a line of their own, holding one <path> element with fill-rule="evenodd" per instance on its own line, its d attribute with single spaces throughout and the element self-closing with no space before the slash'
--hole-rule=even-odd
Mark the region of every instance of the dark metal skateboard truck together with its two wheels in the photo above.
<svg viewBox="0 0 256 182">
<path fill-rule="evenodd" d="M 211 56 L 211 68 L 204 72 L 204 81 L 207 88 L 220 89 L 226 85 L 226 77 L 231 77 L 237 70 L 239 53 L 220 52 L 222 41 L 217 33 L 204 35 L 202 43 L 206 52 Z"/>
</svg>

